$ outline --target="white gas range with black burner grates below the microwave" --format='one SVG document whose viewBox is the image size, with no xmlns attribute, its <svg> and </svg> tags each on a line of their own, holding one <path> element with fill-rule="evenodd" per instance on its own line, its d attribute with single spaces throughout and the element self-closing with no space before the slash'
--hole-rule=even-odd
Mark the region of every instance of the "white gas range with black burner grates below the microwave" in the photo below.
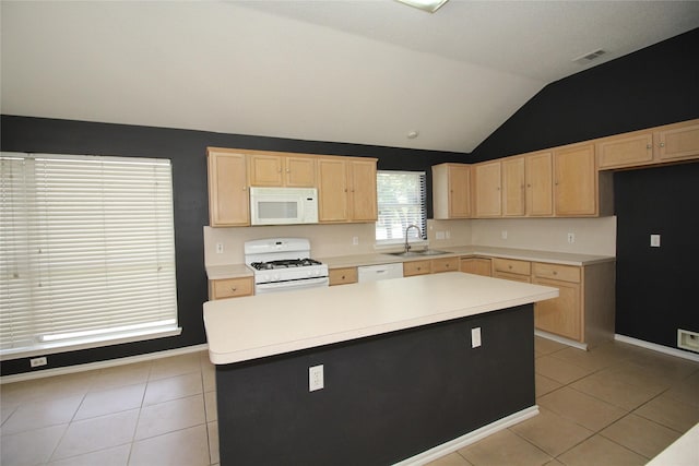
<svg viewBox="0 0 699 466">
<path fill-rule="evenodd" d="M 328 265 L 309 259 L 305 238 L 268 238 L 245 242 L 245 263 L 254 274 L 254 294 L 328 286 Z"/>
</svg>

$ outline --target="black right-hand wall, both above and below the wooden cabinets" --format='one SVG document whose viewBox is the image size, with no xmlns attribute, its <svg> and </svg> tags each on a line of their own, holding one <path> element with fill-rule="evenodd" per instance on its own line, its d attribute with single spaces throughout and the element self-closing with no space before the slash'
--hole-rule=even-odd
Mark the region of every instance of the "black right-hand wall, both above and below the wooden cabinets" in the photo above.
<svg viewBox="0 0 699 466">
<path fill-rule="evenodd" d="M 699 118 L 699 29 L 546 86 L 473 153 L 474 160 Z M 614 175 L 616 332 L 676 347 L 699 332 L 699 164 Z M 650 234 L 662 235 L 651 249 Z"/>
</svg>

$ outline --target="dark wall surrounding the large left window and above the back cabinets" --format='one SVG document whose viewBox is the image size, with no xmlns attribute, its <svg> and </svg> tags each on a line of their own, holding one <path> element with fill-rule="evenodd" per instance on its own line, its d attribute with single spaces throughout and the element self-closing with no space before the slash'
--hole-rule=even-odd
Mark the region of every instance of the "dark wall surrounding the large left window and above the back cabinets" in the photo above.
<svg viewBox="0 0 699 466">
<path fill-rule="evenodd" d="M 333 144 L 202 131 L 2 116 L 3 152 L 163 157 L 173 163 L 177 295 L 182 334 L 177 337 L 51 355 L 39 370 L 186 347 L 205 342 L 202 303 L 208 300 L 203 226 L 209 225 L 206 146 L 368 156 L 379 169 L 426 170 L 463 154 Z M 428 200 L 431 206 L 431 201 Z M 28 372 L 27 358 L 3 361 L 3 375 Z"/>
</svg>

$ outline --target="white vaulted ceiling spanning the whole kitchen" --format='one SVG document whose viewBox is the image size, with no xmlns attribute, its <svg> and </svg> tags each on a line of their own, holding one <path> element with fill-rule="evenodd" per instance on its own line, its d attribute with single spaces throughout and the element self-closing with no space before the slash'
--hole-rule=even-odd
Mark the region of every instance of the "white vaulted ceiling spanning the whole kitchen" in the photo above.
<svg viewBox="0 0 699 466">
<path fill-rule="evenodd" d="M 3 115 L 463 153 L 547 84 L 699 27 L 698 1 L 0 9 Z"/>
</svg>

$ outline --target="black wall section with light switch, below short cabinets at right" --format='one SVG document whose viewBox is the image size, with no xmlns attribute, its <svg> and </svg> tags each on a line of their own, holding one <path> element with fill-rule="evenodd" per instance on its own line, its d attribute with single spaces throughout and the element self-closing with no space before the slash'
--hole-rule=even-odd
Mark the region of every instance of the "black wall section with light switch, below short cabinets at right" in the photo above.
<svg viewBox="0 0 699 466">
<path fill-rule="evenodd" d="M 616 332 L 676 347 L 677 328 L 699 332 L 699 163 L 619 171 L 614 183 Z"/>
</svg>

